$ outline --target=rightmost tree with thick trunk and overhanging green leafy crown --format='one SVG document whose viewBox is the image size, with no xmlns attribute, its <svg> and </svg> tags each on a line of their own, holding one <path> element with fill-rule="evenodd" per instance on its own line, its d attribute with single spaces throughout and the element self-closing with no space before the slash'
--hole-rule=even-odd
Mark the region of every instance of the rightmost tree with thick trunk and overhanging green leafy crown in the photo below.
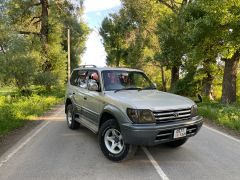
<svg viewBox="0 0 240 180">
<path fill-rule="evenodd" d="M 236 101 L 236 78 L 239 63 L 239 16 L 240 2 L 230 0 L 194 1 L 187 7 L 191 16 L 188 25 L 192 28 L 190 37 L 195 47 L 209 49 L 204 55 L 220 56 L 225 62 L 222 88 L 222 102 Z M 190 23 L 189 23 L 190 22 Z M 197 43 L 198 42 L 198 43 Z M 207 48 L 205 48 L 207 47 Z"/>
</svg>

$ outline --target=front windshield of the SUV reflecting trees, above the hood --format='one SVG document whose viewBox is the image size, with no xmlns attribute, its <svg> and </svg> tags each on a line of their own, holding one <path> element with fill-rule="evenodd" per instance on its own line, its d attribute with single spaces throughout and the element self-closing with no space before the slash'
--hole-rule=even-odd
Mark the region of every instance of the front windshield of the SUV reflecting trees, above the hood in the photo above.
<svg viewBox="0 0 240 180">
<path fill-rule="evenodd" d="M 155 89 L 148 77 L 139 71 L 103 71 L 102 78 L 105 91 Z"/>
</svg>

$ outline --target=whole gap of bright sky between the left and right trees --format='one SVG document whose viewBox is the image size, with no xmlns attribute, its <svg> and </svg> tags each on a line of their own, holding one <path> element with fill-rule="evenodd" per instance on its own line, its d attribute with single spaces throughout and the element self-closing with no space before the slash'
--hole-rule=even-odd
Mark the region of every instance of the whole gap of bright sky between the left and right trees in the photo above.
<svg viewBox="0 0 240 180">
<path fill-rule="evenodd" d="M 118 12 L 121 7 L 120 0 L 85 0 L 84 20 L 92 29 L 86 42 L 86 51 L 81 64 L 93 64 L 98 67 L 106 66 L 106 52 L 98 31 L 102 20 L 110 13 Z"/>
</svg>

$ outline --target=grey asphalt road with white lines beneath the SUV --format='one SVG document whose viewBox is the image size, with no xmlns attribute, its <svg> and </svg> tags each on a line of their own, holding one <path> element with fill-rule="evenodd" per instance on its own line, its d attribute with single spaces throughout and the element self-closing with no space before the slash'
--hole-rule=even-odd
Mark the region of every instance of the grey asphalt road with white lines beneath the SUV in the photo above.
<svg viewBox="0 0 240 180">
<path fill-rule="evenodd" d="M 67 128 L 63 107 L 0 157 L 0 179 L 240 179 L 240 141 L 203 127 L 184 146 L 139 148 L 121 163 L 107 160 L 97 136 Z"/>
</svg>

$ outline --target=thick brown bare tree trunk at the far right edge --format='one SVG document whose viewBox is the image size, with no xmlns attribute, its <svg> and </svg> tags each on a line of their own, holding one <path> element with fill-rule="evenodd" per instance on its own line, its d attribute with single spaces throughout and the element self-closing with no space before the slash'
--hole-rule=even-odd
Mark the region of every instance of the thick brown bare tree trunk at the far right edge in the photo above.
<svg viewBox="0 0 240 180">
<path fill-rule="evenodd" d="M 222 103 L 236 102 L 237 68 L 239 63 L 239 51 L 231 59 L 225 59 L 225 67 L 222 84 Z"/>
</svg>

